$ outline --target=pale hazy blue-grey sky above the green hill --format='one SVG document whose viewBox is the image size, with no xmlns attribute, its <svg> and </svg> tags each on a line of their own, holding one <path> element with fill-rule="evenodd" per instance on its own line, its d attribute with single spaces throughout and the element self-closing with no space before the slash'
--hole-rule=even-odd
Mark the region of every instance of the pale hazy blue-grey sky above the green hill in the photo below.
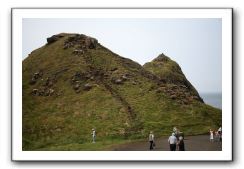
<svg viewBox="0 0 244 169">
<path fill-rule="evenodd" d="M 23 19 L 23 59 L 61 32 L 92 36 L 140 64 L 164 53 L 200 93 L 222 92 L 221 19 Z"/>
</svg>

